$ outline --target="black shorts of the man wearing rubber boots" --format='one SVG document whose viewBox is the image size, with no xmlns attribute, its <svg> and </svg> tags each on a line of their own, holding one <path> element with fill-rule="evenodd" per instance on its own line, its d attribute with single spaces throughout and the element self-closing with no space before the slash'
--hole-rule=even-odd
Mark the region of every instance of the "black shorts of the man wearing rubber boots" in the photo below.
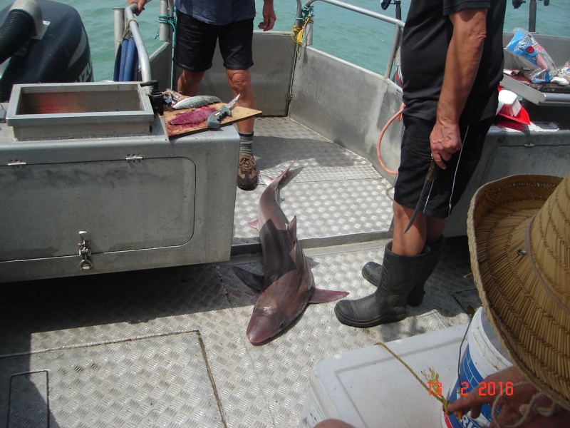
<svg viewBox="0 0 570 428">
<path fill-rule="evenodd" d="M 404 135 L 400 150 L 400 167 L 394 186 L 394 200 L 414 209 L 425 183 L 431 163 L 430 133 L 434 122 L 413 116 L 403 116 Z M 424 198 L 420 210 L 429 217 L 447 218 L 461 198 L 471 175 L 481 158 L 483 143 L 493 118 L 460 126 L 462 150 L 454 153 L 447 168 L 439 170 L 437 179 Z"/>
</svg>

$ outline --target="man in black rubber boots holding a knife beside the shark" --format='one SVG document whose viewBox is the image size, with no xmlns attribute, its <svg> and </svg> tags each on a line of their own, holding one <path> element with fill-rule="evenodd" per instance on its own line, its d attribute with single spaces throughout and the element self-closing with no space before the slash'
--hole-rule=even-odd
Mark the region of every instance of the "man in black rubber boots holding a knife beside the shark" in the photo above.
<svg viewBox="0 0 570 428">
<path fill-rule="evenodd" d="M 424 283 L 445 244 L 445 219 L 479 162 L 497 111 L 505 8 L 506 0 L 410 3 L 401 46 L 405 131 L 394 189 L 394 236 L 383 265 L 369 262 L 362 270 L 377 290 L 337 303 L 343 324 L 395 322 L 406 317 L 406 305 L 421 305 Z M 437 179 L 404 233 L 432 160 Z"/>
</svg>

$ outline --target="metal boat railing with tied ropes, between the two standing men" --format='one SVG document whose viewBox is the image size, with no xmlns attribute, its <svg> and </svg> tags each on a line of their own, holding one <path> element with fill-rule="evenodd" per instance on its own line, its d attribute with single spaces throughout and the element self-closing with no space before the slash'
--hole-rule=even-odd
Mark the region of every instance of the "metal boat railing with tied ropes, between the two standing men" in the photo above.
<svg viewBox="0 0 570 428">
<path fill-rule="evenodd" d="M 311 9 L 311 5 L 314 4 L 316 1 L 323 1 L 324 3 L 331 4 L 333 6 L 338 6 L 343 9 L 347 9 L 349 11 L 356 12 L 357 14 L 362 14 L 366 16 L 370 16 L 371 18 L 378 19 L 380 21 L 387 22 L 388 24 L 394 25 L 394 35 L 392 39 L 392 45 L 390 46 L 390 54 L 388 55 L 388 61 L 386 63 L 386 69 L 384 76 L 390 78 L 390 74 L 392 73 L 392 67 L 394 64 L 394 58 L 396 52 L 398 51 L 398 47 L 400 46 L 400 41 L 402 39 L 402 30 L 404 28 L 404 21 L 400 19 L 390 18 L 390 16 L 385 16 L 383 14 L 378 14 L 378 12 L 370 11 L 368 9 L 363 9 L 359 6 L 354 6 L 353 4 L 345 3 L 344 1 L 338 0 L 307 0 L 304 5 L 301 4 L 301 0 L 297 0 L 297 15 L 295 18 L 295 26 L 297 29 L 301 29 L 302 26 L 306 26 L 305 34 L 306 34 L 306 44 L 311 46 L 313 44 L 313 31 L 312 21 L 306 20 L 306 14 L 309 13 Z"/>
</svg>

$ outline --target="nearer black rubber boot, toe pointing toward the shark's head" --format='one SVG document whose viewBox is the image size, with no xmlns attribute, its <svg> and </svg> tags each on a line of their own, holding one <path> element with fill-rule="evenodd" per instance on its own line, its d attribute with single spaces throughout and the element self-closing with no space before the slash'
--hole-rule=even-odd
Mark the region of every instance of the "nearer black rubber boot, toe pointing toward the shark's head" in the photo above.
<svg viewBox="0 0 570 428">
<path fill-rule="evenodd" d="M 420 255 L 399 255 L 392 253 L 386 245 L 382 274 L 376 291 L 358 300 L 341 300 L 334 308 L 340 322 L 352 327 L 374 327 L 403 320 L 408 294 L 418 282 L 430 256 L 429 248 Z"/>
</svg>

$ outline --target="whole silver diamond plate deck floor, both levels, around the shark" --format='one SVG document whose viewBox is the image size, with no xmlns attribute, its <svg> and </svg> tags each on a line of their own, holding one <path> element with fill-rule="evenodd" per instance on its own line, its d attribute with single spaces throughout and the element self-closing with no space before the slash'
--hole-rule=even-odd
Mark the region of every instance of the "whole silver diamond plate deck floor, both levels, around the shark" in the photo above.
<svg viewBox="0 0 570 428">
<path fill-rule="evenodd" d="M 257 123 L 261 171 L 276 175 L 297 156 L 304 166 L 281 204 L 288 218 L 298 216 L 301 238 L 350 241 L 306 248 L 316 285 L 346 290 L 348 298 L 373 292 L 360 270 L 382 259 L 388 239 L 348 238 L 389 229 L 390 186 L 358 156 L 289 119 Z M 299 152 L 303 146 L 308 151 Z M 263 188 L 237 191 L 234 245 L 256 242 L 242 222 L 254 218 Z M 356 329 L 336 320 L 334 303 L 309 305 L 281 335 L 253 346 L 245 330 L 257 294 L 232 265 L 263 269 L 259 255 L 241 255 L 228 263 L 4 285 L 0 425 L 297 427 L 315 362 L 465 324 L 462 305 L 480 305 L 465 277 L 467 240 L 452 238 L 423 305 L 408 307 L 407 319 Z"/>
</svg>

